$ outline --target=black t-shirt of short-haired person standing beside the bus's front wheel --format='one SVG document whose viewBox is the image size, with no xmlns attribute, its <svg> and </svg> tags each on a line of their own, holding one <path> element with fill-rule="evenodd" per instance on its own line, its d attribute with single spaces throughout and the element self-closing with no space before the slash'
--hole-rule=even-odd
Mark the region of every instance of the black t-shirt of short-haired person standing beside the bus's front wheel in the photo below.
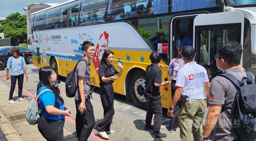
<svg viewBox="0 0 256 141">
<path fill-rule="evenodd" d="M 155 86 L 154 83 L 162 83 L 162 71 L 159 69 L 158 65 L 151 64 L 146 68 L 146 88 L 144 90 L 149 97 L 158 96 L 160 94 L 159 87 Z"/>
</svg>

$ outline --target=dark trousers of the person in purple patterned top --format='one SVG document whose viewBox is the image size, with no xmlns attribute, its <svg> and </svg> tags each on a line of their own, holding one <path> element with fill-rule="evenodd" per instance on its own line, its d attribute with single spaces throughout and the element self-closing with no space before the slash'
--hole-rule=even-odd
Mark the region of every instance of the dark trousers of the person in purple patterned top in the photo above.
<svg viewBox="0 0 256 141">
<path fill-rule="evenodd" d="M 176 84 L 176 80 L 172 80 L 172 83 L 171 83 L 172 99 L 176 91 L 175 84 Z M 175 130 L 178 127 L 178 123 L 179 123 L 178 116 L 177 116 L 178 106 L 179 106 L 179 102 L 177 102 L 176 105 L 174 106 L 174 110 L 172 113 L 174 116 L 171 117 L 171 120 L 170 120 L 170 130 Z"/>
</svg>

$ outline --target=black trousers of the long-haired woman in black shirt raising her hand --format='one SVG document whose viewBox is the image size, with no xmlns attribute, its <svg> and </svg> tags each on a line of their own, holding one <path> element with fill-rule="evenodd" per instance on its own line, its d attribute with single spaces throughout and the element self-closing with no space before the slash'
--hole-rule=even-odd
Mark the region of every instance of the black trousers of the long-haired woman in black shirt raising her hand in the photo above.
<svg viewBox="0 0 256 141">
<path fill-rule="evenodd" d="M 104 109 L 103 120 L 98 123 L 96 130 L 99 132 L 110 131 L 110 125 L 115 114 L 114 109 L 114 89 L 112 84 L 100 86 L 100 100 Z"/>
</svg>

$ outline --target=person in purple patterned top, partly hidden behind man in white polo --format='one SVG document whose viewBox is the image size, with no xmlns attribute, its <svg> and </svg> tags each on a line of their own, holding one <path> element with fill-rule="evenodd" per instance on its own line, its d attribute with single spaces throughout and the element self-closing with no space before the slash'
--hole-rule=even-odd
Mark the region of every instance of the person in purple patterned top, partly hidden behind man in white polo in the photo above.
<svg viewBox="0 0 256 141">
<path fill-rule="evenodd" d="M 177 74 L 180 68 L 182 68 L 184 66 L 184 61 L 181 59 L 180 54 L 181 54 L 181 48 L 179 49 L 179 55 L 177 56 L 177 58 L 172 59 L 172 61 L 169 64 L 169 68 L 167 69 L 167 73 L 171 76 L 171 92 L 172 92 L 172 98 L 174 96 L 174 93 L 176 91 L 176 79 L 177 79 Z M 170 132 L 173 133 L 174 131 L 176 131 L 177 127 L 178 127 L 178 117 L 177 117 L 177 111 L 178 111 L 178 105 L 179 103 L 177 103 L 174 106 L 174 111 L 173 111 L 173 115 L 174 117 L 171 117 L 170 120 Z"/>
</svg>

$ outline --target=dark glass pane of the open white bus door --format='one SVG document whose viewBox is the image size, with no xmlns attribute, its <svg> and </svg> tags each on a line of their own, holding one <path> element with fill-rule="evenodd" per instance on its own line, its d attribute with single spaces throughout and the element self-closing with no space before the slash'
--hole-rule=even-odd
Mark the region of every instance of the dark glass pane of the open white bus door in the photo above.
<svg viewBox="0 0 256 141">
<path fill-rule="evenodd" d="M 214 78 L 222 71 L 217 69 L 216 60 L 217 48 L 227 41 L 239 41 L 238 27 L 230 26 L 198 31 L 199 36 L 199 64 L 203 65 L 209 73 L 209 78 Z M 214 69 L 213 69 L 214 68 Z"/>
</svg>

